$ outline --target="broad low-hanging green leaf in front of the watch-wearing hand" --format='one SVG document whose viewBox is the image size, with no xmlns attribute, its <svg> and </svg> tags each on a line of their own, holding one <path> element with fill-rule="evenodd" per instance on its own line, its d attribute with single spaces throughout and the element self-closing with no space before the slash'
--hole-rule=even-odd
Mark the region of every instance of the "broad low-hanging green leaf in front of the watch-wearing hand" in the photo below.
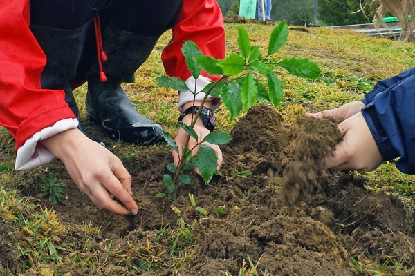
<svg viewBox="0 0 415 276">
<path fill-rule="evenodd" d="M 199 168 L 203 180 L 209 182 L 218 166 L 218 157 L 216 157 L 213 148 L 201 144 L 194 158 L 196 159 L 196 166 Z"/>
</svg>

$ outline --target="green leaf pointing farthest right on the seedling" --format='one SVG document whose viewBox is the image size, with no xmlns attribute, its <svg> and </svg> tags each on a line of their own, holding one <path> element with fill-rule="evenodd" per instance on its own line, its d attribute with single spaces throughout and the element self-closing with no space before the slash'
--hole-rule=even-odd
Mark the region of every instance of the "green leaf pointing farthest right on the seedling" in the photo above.
<svg viewBox="0 0 415 276">
<path fill-rule="evenodd" d="M 318 68 L 316 63 L 309 61 L 308 59 L 291 57 L 279 61 L 277 64 L 297 77 L 315 79 L 320 75 L 320 68 Z"/>
</svg>

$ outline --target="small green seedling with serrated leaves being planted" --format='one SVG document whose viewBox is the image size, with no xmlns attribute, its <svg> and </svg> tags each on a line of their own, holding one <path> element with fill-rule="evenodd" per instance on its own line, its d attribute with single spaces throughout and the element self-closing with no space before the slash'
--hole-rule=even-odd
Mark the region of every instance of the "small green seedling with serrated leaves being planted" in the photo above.
<svg viewBox="0 0 415 276">
<path fill-rule="evenodd" d="M 197 80 L 203 70 L 210 75 L 219 75 L 220 77 L 201 91 L 205 93 L 205 96 L 201 101 L 199 110 L 193 116 L 192 124 L 187 126 L 182 122 L 178 122 L 178 125 L 188 134 L 187 141 L 180 154 L 174 139 L 167 133 L 163 133 L 167 144 L 172 146 L 173 150 L 179 154 L 178 165 L 169 164 L 167 166 L 173 177 L 171 175 L 163 177 L 163 183 L 167 187 L 167 194 L 170 199 L 176 198 L 177 187 L 181 184 L 190 184 L 190 177 L 185 175 L 185 170 L 195 170 L 197 168 L 203 180 L 209 183 L 214 172 L 216 172 L 218 160 L 214 150 L 205 144 L 223 145 L 232 139 L 226 133 L 215 131 L 194 146 L 194 148 L 199 147 L 196 155 L 192 155 L 194 148 L 188 148 L 191 138 L 199 141 L 199 137 L 193 128 L 201 114 L 203 104 L 209 96 L 221 97 L 221 102 L 230 111 L 230 121 L 232 121 L 241 114 L 242 110 L 248 111 L 259 101 L 266 101 L 275 107 L 279 105 L 283 95 L 282 83 L 274 72 L 274 67 L 284 68 L 297 77 L 313 79 L 320 75 L 320 68 L 308 59 L 288 58 L 278 62 L 270 59 L 284 46 L 287 39 L 288 26 L 285 21 L 282 21 L 271 33 L 268 51 L 266 56 L 263 57 L 259 46 L 252 46 L 248 38 L 248 32 L 239 26 L 237 38 L 239 53 L 232 53 L 225 59 L 214 59 L 205 56 L 194 42 L 185 41 L 182 52 L 192 77 Z M 257 78 L 261 75 L 264 75 L 264 78 Z M 262 83 L 261 79 L 266 79 L 266 83 Z M 188 90 L 185 82 L 176 77 L 163 76 L 158 77 L 157 80 L 166 88 L 178 91 Z M 199 92 L 194 93 L 194 102 L 197 94 Z"/>
</svg>

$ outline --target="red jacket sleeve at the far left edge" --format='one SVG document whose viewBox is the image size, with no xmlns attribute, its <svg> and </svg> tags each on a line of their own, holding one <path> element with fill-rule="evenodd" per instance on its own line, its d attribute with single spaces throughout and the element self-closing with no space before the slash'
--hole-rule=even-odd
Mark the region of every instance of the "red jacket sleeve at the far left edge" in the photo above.
<svg viewBox="0 0 415 276">
<path fill-rule="evenodd" d="M 63 90 L 44 90 L 40 77 L 46 57 L 29 29 L 28 0 L 0 1 L 0 125 L 16 150 L 56 121 L 75 118 Z"/>
</svg>

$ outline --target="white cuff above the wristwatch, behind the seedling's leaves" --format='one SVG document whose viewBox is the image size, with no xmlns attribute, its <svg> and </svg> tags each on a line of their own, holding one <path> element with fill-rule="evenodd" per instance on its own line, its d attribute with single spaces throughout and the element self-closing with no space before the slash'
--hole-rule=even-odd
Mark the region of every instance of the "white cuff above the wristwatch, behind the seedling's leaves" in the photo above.
<svg viewBox="0 0 415 276">
<path fill-rule="evenodd" d="M 183 112 L 183 105 L 190 101 L 202 101 L 206 93 L 201 92 L 212 80 L 208 77 L 200 75 L 197 79 L 194 79 L 193 76 L 190 76 L 186 81 L 186 85 L 189 88 L 187 91 L 181 91 L 178 93 L 178 110 Z M 212 110 L 218 108 L 221 105 L 219 97 L 209 96 L 206 101 L 212 102 Z"/>
</svg>

